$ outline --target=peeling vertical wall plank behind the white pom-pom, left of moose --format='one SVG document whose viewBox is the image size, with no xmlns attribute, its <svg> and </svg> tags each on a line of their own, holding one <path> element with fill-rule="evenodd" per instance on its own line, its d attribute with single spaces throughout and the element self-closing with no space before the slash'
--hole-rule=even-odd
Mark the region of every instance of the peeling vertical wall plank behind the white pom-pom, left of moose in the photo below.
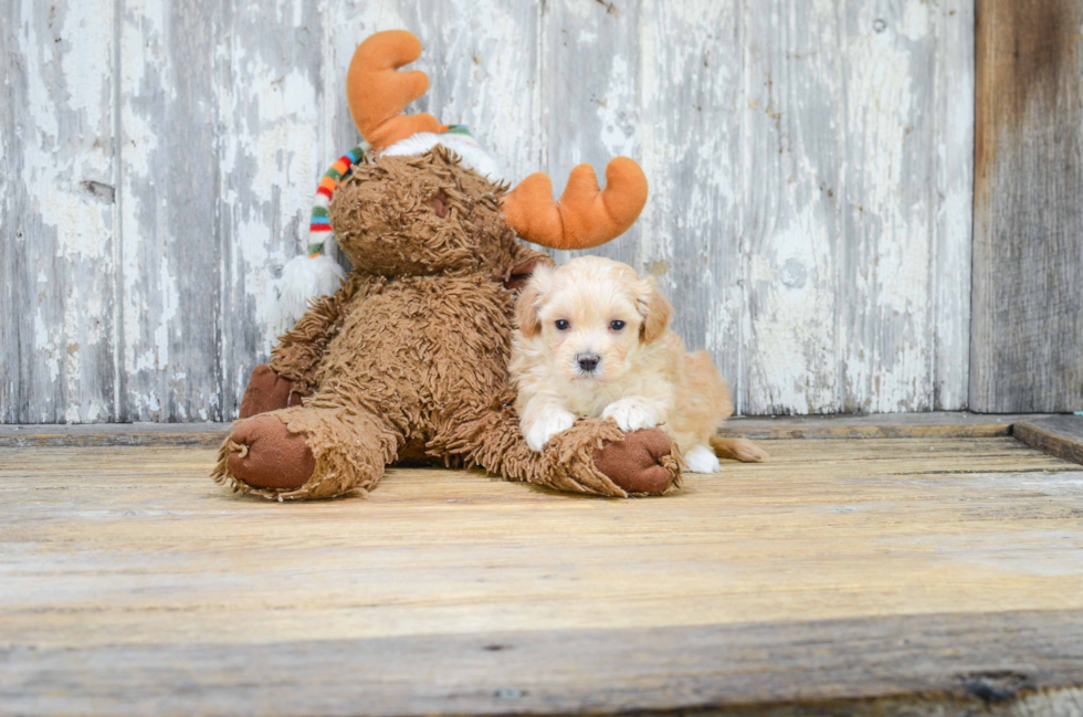
<svg viewBox="0 0 1083 717">
<path fill-rule="evenodd" d="M 326 27 L 304 0 L 224 7 L 215 76 L 221 133 L 222 414 L 234 418 L 252 368 L 286 326 L 275 280 L 307 245 L 320 156 Z M 338 87 L 330 92 L 341 96 Z M 353 145 L 350 145 L 353 146 Z M 338 154 L 349 147 L 339 148 Z"/>
</svg>

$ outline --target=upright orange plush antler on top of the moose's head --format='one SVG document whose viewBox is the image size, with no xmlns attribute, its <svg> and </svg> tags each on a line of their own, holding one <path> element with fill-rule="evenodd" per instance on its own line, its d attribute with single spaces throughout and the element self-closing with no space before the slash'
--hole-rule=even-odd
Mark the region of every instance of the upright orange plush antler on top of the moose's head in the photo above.
<svg viewBox="0 0 1083 717">
<path fill-rule="evenodd" d="M 420 56 L 421 42 L 406 30 L 377 32 L 354 52 L 346 75 L 349 112 L 377 151 L 419 131 L 440 131 L 440 122 L 430 114 L 401 114 L 429 89 L 429 76 L 420 70 L 398 72 Z"/>
</svg>

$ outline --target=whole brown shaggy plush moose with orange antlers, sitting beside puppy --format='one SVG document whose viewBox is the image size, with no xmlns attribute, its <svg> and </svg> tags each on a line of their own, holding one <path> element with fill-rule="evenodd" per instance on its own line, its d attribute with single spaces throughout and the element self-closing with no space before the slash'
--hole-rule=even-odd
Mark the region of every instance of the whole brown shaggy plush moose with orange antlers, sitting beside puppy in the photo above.
<svg viewBox="0 0 1083 717">
<path fill-rule="evenodd" d="M 550 261 L 516 234 L 553 249 L 618 236 L 646 201 L 642 170 L 616 158 L 600 191 L 581 165 L 559 203 L 543 173 L 508 192 L 466 166 L 481 150 L 464 129 L 401 114 L 429 86 L 422 72 L 398 72 L 420 55 L 404 31 L 375 34 L 354 55 L 350 112 L 372 151 L 333 180 L 328 212 L 354 268 L 252 372 L 212 477 L 316 498 L 370 489 L 389 464 L 431 461 L 577 493 L 670 491 L 680 462 L 658 429 L 581 420 L 532 451 L 507 371 L 516 291 Z"/>
</svg>

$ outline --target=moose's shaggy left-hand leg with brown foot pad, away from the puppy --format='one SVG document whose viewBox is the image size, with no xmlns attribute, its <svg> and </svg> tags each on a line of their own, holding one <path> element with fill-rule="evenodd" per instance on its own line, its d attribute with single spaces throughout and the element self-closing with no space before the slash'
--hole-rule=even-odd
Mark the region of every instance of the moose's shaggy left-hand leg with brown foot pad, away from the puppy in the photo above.
<svg viewBox="0 0 1083 717">
<path fill-rule="evenodd" d="M 297 499 L 372 488 L 401 434 L 347 408 L 288 408 L 245 419 L 219 449 L 212 477 L 234 491 Z"/>
</svg>

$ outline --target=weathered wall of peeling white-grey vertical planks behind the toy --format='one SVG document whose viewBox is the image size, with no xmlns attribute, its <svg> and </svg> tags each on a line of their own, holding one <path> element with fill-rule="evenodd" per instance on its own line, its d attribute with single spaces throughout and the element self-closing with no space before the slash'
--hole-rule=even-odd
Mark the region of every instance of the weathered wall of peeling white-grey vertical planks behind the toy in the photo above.
<svg viewBox="0 0 1083 717">
<path fill-rule="evenodd" d="M 744 413 L 967 404 L 972 0 L 0 0 L 0 421 L 231 418 L 362 38 L 557 190 L 637 158 Z"/>
</svg>

